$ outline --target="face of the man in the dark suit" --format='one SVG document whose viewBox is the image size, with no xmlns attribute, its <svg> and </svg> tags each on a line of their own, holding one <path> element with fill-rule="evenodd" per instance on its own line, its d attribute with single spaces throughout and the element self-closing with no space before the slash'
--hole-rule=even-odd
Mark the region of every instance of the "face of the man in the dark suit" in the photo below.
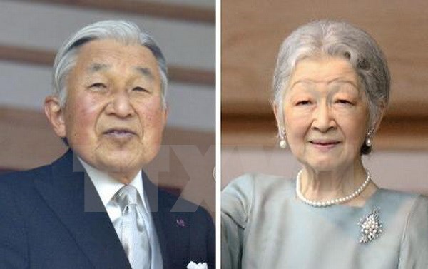
<svg viewBox="0 0 428 269">
<path fill-rule="evenodd" d="M 158 153 L 167 111 L 149 49 L 113 39 L 81 47 L 67 81 L 63 133 L 83 161 L 131 181 Z"/>
</svg>

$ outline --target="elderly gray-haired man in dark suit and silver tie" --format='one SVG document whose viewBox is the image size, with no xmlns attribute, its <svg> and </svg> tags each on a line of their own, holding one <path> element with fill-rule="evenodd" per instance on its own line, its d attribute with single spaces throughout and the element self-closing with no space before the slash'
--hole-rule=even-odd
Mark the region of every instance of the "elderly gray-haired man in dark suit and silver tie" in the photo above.
<svg viewBox="0 0 428 269">
<path fill-rule="evenodd" d="M 70 150 L 0 178 L 0 268 L 215 268 L 208 213 L 141 171 L 161 145 L 166 87 L 161 50 L 134 24 L 100 21 L 63 44 L 44 110 Z"/>
</svg>

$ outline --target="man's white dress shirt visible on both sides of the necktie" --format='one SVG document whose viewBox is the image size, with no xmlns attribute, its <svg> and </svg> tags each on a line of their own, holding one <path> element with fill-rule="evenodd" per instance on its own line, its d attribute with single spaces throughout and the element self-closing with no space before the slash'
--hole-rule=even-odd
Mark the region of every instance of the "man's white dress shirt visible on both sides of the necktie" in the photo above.
<svg viewBox="0 0 428 269">
<path fill-rule="evenodd" d="M 103 205 L 106 207 L 106 211 L 108 213 L 108 217 L 111 220 L 111 223 L 116 223 L 119 218 L 121 218 L 122 212 L 121 208 L 111 199 L 119 191 L 120 188 L 125 186 L 125 184 L 116 181 L 116 179 L 112 178 L 108 175 L 108 173 L 104 173 L 99 171 L 96 168 L 88 165 L 85 161 L 78 157 L 78 160 L 82 163 L 83 167 L 88 173 L 89 178 L 93 182 L 93 185 L 98 192 L 98 195 L 103 201 Z M 135 187 L 138 191 L 138 215 L 143 220 L 146 225 L 148 237 L 150 240 L 150 245 L 152 248 L 151 251 L 151 269 L 162 269 L 162 255 L 161 255 L 161 247 L 159 245 L 158 236 L 156 234 L 156 227 L 153 224 L 153 219 L 151 216 L 151 210 L 147 201 L 147 197 L 144 195 L 143 189 L 143 179 L 141 178 L 141 171 L 138 171 L 138 174 L 133 181 L 129 183 L 131 186 Z M 118 227 L 118 225 L 114 225 L 114 227 Z M 116 233 L 120 238 L 121 230 L 116 228 Z"/>
</svg>

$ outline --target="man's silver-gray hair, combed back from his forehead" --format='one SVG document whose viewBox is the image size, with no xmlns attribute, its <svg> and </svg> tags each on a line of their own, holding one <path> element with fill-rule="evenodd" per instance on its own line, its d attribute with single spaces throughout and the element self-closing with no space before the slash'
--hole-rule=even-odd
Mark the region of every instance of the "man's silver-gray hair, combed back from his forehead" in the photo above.
<svg viewBox="0 0 428 269">
<path fill-rule="evenodd" d="M 161 93 L 163 106 L 166 106 L 166 90 L 168 86 L 168 68 L 165 57 L 156 41 L 148 34 L 142 32 L 136 24 L 130 21 L 108 20 L 98 21 L 83 27 L 66 40 L 54 61 L 54 74 L 52 78 L 54 95 L 58 96 L 61 107 L 66 103 L 67 77 L 78 58 L 78 49 L 88 41 L 96 39 L 114 39 L 123 44 L 141 44 L 146 46 L 155 56 L 161 74 Z"/>
</svg>

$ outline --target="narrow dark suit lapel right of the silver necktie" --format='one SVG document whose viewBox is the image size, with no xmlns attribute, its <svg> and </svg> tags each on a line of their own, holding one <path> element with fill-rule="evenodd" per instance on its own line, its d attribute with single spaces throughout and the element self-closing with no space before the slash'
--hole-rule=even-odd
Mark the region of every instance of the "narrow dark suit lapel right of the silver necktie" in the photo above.
<svg viewBox="0 0 428 269">
<path fill-rule="evenodd" d="M 168 241 L 166 240 L 165 233 L 163 232 L 164 225 L 161 221 L 162 218 L 160 218 L 160 215 L 165 213 L 167 214 L 169 209 L 165 208 L 165 205 L 163 205 L 161 199 L 158 199 L 158 187 L 148 179 L 148 176 L 146 176 L 144 171 L 141 171 L 141 176 L 143 178 L 144 194 L 147 196 L 153 223 L 156 227 L 156 234 L 158 235 L 159 245 L 161 246 L 163 269 L 168 269 L 171 268 L 170 257 L 168 253 Z"/>
</svg>

